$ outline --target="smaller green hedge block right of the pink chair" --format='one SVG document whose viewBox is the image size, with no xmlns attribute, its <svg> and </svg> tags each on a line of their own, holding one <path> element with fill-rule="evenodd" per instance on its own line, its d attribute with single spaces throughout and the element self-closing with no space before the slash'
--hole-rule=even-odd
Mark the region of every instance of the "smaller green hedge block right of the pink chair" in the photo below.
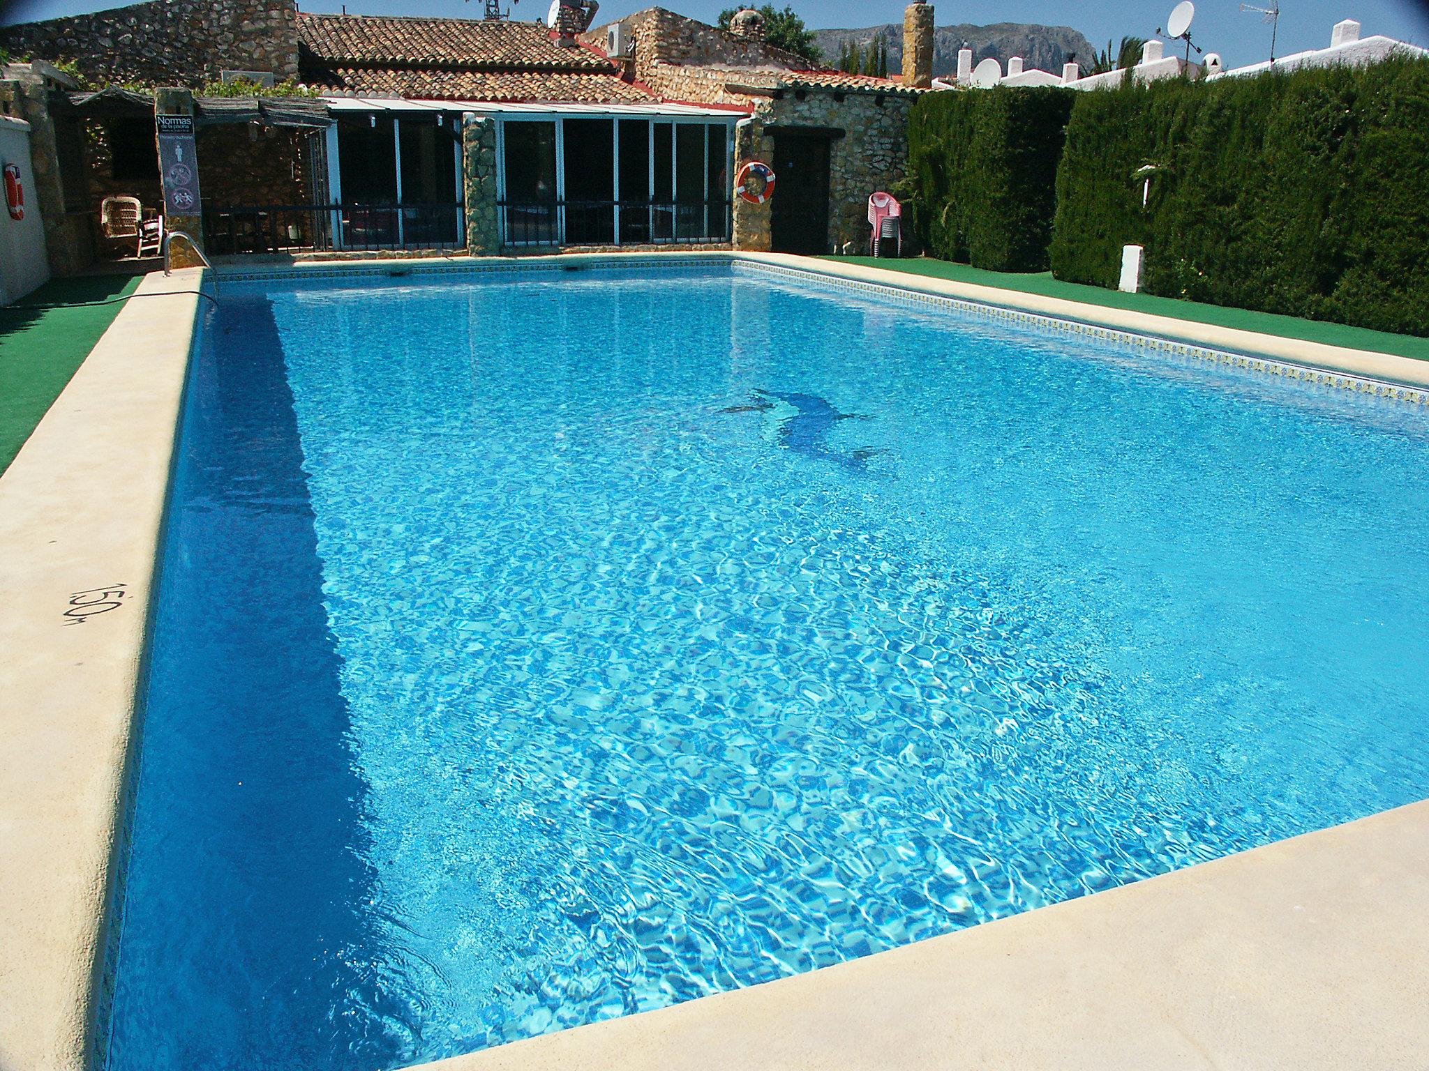
<svg viewBox="0 0 1429 1071">
<path fill-rule="evenodd" d="M 909 114 L 910 226 L 942 260 L 1043 271 L 1072 90 L 925 94 Z"/>
</svg>

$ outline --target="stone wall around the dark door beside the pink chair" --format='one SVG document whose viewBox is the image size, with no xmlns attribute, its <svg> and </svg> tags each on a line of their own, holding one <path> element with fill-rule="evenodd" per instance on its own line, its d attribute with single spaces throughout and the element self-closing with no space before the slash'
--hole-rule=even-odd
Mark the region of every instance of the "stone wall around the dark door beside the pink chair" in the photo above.
<svg viewBox="0 0 1429 1071">
<path fill-rule="evenodd" d="M 852 241 L 855 251 L 869 243 L 869 194 L 903 178 L 907 164 L 907 113 L 913 99 L 900 94 L 789 91 L 762 101 L 755 121 L 739 131 L 736 166 L 749 160 L 775 161 L 769 126 L 843 130 L 829 144 L 829 247 Z M 775 198 L 779 187 L 775 187 Z M 735 201 L 736 248 L 769 248 L 769 204 Z"/>
</svg>

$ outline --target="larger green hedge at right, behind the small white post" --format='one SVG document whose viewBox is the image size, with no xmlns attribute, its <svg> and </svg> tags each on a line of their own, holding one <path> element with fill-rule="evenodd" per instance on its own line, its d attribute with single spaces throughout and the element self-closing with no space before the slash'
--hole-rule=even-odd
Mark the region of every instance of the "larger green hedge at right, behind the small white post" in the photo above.
<svg viewBox="0 0 1429 1071">
<path fill-rule="evenodd" d="M 1429 334 L 1429 60 L 1077 94 L 1052 271 L 1127 243 L 1153 294 Z"/>
</svg>

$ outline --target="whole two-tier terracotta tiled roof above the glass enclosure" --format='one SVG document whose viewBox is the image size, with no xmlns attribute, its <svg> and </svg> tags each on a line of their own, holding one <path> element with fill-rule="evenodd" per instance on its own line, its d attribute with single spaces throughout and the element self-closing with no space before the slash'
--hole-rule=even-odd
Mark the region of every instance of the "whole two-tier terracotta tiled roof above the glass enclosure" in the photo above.
<svg viewBox="0 0 1429 1071">
<path fill-rule="evenodd" d="M 297 14 L 300 77 L 327 93 L 532 103 L 646 103 L 589 47 L 542 23 Z"/>
</svg>

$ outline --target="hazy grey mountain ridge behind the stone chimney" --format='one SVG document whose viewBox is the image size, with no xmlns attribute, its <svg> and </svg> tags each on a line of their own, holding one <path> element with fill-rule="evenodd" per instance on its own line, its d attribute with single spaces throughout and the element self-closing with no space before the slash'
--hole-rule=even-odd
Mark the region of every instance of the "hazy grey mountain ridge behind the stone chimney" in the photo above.
<svg viewBox="0 0 1429 1071">
<path fill-rule="evenodd" d="M 883 23 L 882 26 L 866 26 L 862 29 L 829 29 L 815 30 L 815 40 L 823 49 L 825 63 L 835 64 L 846 41 L 853 41 L 860 49 L 875 40 L 887 41 L 889 71 L 897 73 L 903 69 L 903 24 Z M 957 71 L 957 50 L 967 41 L 973 50 L 973 64 L 989 56 L 996 59 L 1003 70 L 1007 60 L 1020 56 L 1023 63 L 1055 74 L 1062 73 L 1062 64 L 1076 56 L 1086 69 L 1095 49 L 1092 41 L 1079 30 L 1070 26 L 1042 26 L 1040 23 L 992 23 L 990 26 L 973 26 L 972 23 L 956 23 L 953 26 L 939 26 L 933 30 L 933 77 L 943 77 Z"/>
</svg>

